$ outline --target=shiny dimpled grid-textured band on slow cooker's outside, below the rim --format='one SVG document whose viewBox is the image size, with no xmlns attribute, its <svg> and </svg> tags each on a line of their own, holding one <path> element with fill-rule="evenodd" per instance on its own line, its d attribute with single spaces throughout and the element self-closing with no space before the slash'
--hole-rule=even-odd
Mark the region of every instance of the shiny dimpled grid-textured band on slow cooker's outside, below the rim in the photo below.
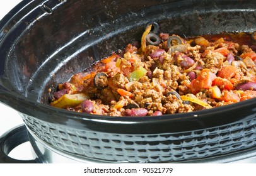
<svg viewBox="0 0 256 176">
<path fill-rule="evenodd" d="M 77 130 L 21 116 L 30 131 L 60 151 L 107 162 L 191 161 L 256 145 L 256 118 L 183 133 L 120 135 Z"/>
</svg>

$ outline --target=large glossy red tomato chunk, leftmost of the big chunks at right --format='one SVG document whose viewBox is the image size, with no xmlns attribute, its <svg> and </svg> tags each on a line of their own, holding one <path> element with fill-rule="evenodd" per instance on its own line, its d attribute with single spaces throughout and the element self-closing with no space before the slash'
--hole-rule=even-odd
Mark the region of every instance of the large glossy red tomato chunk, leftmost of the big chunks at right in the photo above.
<svg viewBox="0 0 256 176">
<path fill-rule="evenodd" d="M 203 69 L 201 74 L 196 79 L 192 80 L 190 89 L 193 94 L 197 94 L 201 89 L 209 89 L 212 86 L 212 81 L 216 79 L 216 75 L 209 69 Z"/>
</svg>

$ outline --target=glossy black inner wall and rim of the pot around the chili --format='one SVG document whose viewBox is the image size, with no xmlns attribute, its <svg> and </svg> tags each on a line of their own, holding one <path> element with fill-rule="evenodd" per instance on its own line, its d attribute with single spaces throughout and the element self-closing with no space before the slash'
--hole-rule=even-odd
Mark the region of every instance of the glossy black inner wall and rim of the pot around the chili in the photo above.
<svg viewBox="0 0 256 176">
<path fill-rule="evenodd" d="M 147 23 L 196 36 L 256 29 L 255 1 L 32 1 L 0 23 L 0 101 L 22 114 L 76 129 L 108 133 L 172 133 L 255 116 L 255 99 L 187 114 L 113 118 L 50 107 L 59 82 L 140 40 Z"/>
</svg>

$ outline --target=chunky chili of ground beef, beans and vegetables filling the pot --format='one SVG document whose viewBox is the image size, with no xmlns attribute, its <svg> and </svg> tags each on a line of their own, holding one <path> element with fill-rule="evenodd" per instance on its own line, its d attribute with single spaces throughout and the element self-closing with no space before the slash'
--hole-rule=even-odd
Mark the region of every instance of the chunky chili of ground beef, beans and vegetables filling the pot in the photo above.
<svg viewBox="0 0 256 176">
<path fill-rule="evenodd" d="M 60 83 L 51 105 L 83 112 L 82 102 L 90 99 L 91 114 L 151 116 L 189 113 L 256 97 L 254 89 L 236 90 L 239 84 L 256 85 L 256 53 L 248 41 L 232 41 L 233 35 L 185 39 L 160 33 L 157 45 L 142 38 L 140 45 L 130 43 Z M 170 36 L 178 39 L 168 46 Z M 230 70 L 223 72 L 225 68 Z M 67 99 L 66 94 L 80 99 Z"/>
</svg>

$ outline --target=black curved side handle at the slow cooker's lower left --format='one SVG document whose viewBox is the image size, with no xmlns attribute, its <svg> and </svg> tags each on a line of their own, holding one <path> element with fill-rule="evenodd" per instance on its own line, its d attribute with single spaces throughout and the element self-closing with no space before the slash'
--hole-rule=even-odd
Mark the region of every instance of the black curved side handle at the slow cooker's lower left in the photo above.
<svg viewBox="0 0 256 176">
<path fill-rule="evenodd" d="M 29 141 L 24 124 L 10 129 L 0 137 L 0 163 L 37 163 L 36 160 L 16 160 L 8 156 L 16 146 Z"/>
</svg>

